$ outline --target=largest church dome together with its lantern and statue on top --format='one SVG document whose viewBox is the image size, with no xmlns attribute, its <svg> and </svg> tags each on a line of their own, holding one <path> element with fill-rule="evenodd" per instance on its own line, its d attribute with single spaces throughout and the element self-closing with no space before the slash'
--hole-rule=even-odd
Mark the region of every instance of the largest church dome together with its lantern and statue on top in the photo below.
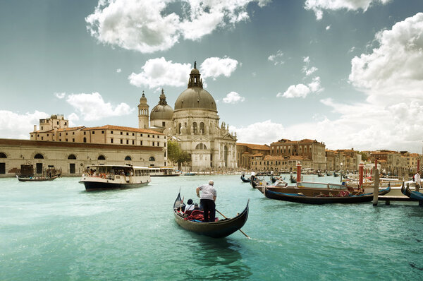
<svg viewBox="0 0 423 281">
<path fill-rule="evenodd" d="M 194 65 L 188 80 L 188 89 L 183 91 L 175 102 L 175 111 L 182 109 L 206 109 L 217 112 L 216 102 L 207 90 L 202 88 L 200 71 Z"/>
</svg>

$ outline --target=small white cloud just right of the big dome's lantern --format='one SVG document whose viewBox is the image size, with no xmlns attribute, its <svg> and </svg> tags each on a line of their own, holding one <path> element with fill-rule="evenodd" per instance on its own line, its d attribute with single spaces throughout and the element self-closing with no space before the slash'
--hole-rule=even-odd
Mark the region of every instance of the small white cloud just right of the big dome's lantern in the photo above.
<svg viewBox="0 0 423 281">
<path fill-rule="evenodd" d="M 238 61 L 227 56 L 223 57 L 223 59 L 211 57 L 203 61 L 200 66 L 200 73 L 203 78 L 212 77 L 213 79 L 216 79 L 221 75 L 229 77 L 233 71 L 235 71 L 237 66 Z"/>
</svg>

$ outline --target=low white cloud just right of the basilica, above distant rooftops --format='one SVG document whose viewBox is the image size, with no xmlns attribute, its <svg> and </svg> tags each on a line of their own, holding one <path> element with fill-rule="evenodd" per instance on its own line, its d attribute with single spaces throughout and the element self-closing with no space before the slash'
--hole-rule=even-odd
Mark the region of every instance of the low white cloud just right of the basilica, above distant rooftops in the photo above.
<svg viewBox="0 0 423 281">
<path fill-rule="evenodd" d="M 239 143 L 257 143 L 269 145 L 269 141 L 276 141 L 285 135 L 285 129 L 283 126 L 281 124 L 274 123 L 271 120 L 257 122 L 255 124 L 240 128 L 229 126 L 229 130 L 236 132 Z"/>
</svg>

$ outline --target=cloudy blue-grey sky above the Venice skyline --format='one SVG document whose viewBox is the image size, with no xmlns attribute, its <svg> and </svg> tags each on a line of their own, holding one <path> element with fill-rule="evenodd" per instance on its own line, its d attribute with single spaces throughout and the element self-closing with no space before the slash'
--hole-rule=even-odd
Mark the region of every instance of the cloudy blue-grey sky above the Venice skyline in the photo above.
<svg viewBox="0 0 423 281">
<path fill-rule="evenodd" d="M 197 61 L 240 143 L 423 151 L 422 0 L 0 1 L 0 138 L 137 127 Z"/>
</svg>

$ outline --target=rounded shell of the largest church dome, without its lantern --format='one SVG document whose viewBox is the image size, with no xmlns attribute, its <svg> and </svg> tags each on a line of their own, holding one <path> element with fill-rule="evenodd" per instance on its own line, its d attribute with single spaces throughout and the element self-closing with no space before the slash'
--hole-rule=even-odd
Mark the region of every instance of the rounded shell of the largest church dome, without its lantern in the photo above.
<svg viewBox="0 0 423 281">
<path fill-rule="evenodd" d="M 175 110 L 180 109 L 208 109 L 217 112 L 212 95 L 200 87 L 188 88 L 179 95 L 175 102 Z"/>
</svg>

